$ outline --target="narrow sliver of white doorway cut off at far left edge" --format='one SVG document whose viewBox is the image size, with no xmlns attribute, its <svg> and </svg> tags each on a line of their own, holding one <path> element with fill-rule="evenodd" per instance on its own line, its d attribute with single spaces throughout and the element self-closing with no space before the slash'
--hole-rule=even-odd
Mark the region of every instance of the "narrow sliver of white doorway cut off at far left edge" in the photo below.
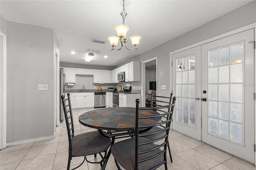
<svg viewBox="0 0 256 170">
<path fill-rule="evenodd" d="M 6 148 L 6 35 L 0 32 L 0 149 Z"/>
</svg>

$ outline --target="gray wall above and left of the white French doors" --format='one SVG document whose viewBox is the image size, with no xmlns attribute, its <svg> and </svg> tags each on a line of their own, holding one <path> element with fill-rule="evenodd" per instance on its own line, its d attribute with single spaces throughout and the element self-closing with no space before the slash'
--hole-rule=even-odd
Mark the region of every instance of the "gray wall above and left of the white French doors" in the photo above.
<svg viewBox="0 0 256 170">
<path fill-rule="evenodd" d="M 217 18 L 203 26 L 200 26 L 182 36 L 174 38 L 142 55 L 128 59 L 120 63 L 118 67 L 130 61 L 145 61 L 158 56 L 158 95 L 170 94 L 170 52 L 203 40 L 236 30 L 243 26 L 256 22 L 256 1 L 250 2 L 220 18 Z M 139 47 L 140 48 L 140 47 Z M 163 76 L 160 72 L 163 71 Z M 166 85 L 166 89 L 160 89 L 160 85 Z"/>
</svg>

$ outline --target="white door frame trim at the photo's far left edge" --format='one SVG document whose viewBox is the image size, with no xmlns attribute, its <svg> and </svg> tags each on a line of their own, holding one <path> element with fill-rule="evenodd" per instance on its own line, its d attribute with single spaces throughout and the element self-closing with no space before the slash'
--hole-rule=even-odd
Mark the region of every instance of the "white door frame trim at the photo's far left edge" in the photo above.
<svg viewBox="0 0 256 170">
<path fill-rule="evenodd" d="M 3 113 L 1 113 L 1 115 L 3 115 L 3 120 L 1 120 L 0 123 L 3 123 L 3 129 L 1 129 L 1 133 L 3 133 L 3 137 L 0 139 L 0 143 L 2 143 L 2 147 L 0 149 L 6 148 L 6 108 L 7 108 L 7 104 L 6 104 L 6 81 L 7 81 L 7 63 L 6 63 L 6 35 L 3 32 L 0 32 L 0 36 L 3 38 L 3 77 L 1 77 L 1 79 L 3 79 L 3 94 L 0 94 L 1 96 L 3 96 Z"/>
</svg>

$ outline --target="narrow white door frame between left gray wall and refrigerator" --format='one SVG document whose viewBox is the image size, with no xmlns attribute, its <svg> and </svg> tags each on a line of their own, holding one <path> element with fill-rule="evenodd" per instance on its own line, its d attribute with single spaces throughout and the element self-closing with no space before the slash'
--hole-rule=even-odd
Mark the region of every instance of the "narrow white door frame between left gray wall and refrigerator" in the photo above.
<svg viewBox="0 0 256 170">
<path fill-rule="evenodd" d="M 60 125 L 60 53 L 54 47 L 54 136 L 56 134 L 56 126 Z"/>
</svg>

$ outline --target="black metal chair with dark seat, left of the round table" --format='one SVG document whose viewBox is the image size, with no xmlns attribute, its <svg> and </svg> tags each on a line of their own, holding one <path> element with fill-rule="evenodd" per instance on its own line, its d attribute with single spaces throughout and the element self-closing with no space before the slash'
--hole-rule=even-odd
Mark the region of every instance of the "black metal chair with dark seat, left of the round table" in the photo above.
<svg viewBox="0 0 256 170">
<path fill-rule="evenodd" d="M 102 166 L 102 162 L 104 162 L 106 158 L 106 152 L 111 145 L 110 138 L 106 138 L 102 136 L 98 131 L 92 131 L 87 133 L 82 133 L 74 136 L 74 123 L 73 123 L 73 115 L 70 104 L 70 94 L 68 93 L 68 99 L 65 99 L 64 96 L 61 96 L 62 104 L 64 108 L 66 127 L 68 130 L 68 166 L 67 170 L 70 169 L 70 161 L 72 157 L 76 156 L 84 156 L 84 160 L 89 163 L 98 163 Z M 68 101 L 68 105 L 66 105 L 66 101 Z M 67 111 L 68 107 L 68 111 Z M 69 115 L 68 115 L 69 113 Z M 101 152 L 104 152 L 104 156 L 102 156 Z M 88 155 L 100 154 L 102 160 L 100 162 L 90 162 L 86 159 Z M 84 161 L 79 165 L 81 166 Z M 77 166 L 76 168 L 78 168 Z M 74 169 L 76 169 L 74 168 Z M 72 170 L 74 170 L 72 169 Z"/>
</svg>

